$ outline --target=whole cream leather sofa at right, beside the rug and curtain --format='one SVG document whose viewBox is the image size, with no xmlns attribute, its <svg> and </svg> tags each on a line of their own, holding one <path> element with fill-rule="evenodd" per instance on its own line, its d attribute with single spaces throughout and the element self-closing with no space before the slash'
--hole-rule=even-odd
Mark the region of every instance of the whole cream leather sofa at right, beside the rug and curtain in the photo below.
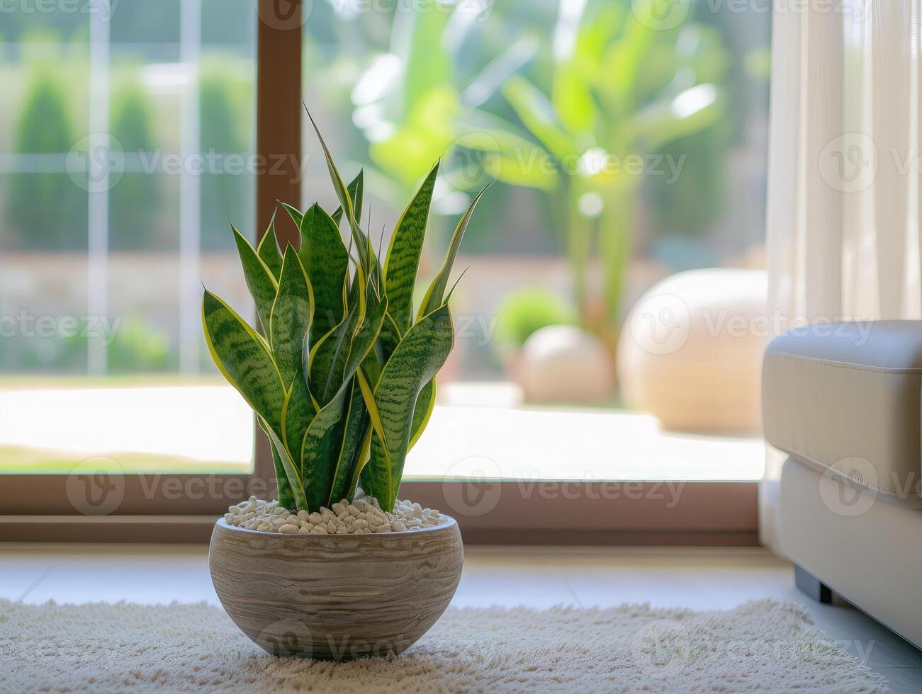
<svg viewBox="0 0 922 694">
<path fill-rule="evenodd" d="M 798 587 L 833 592 L 922 647 L 922 322 L 833 323 L 774 339 L 765 438 L 787 453 L 780 548 Z"/>
</svg>

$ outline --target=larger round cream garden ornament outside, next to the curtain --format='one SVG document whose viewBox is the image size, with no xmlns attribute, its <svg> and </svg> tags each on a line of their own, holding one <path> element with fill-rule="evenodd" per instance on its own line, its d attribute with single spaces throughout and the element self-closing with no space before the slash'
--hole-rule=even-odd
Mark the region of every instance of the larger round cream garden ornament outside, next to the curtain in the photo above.
<svg viewBox="0 0 922 694">
<path fill-rule="evenodd" d="M 666 429 L 758 431 L 767 295 L 762 270 L 691 270 L 656 284 L 621 330 L 624 402 Z"/>
</svg>

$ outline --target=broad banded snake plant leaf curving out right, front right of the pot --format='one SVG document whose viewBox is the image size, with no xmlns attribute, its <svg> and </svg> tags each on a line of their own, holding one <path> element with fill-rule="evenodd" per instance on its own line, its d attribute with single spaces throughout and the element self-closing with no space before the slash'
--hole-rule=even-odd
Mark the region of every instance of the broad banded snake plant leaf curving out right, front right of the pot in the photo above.
<svg viewBox="0 0 922 694">
<path fill-rule="evenodd" d="M 362 485 L 386 511 L 394 509 L 420 391 L 442 368 L 454 343 L 451 311 L 443 304 L 404 335 L 381 371 L 372 401 L 362 389 L 375 430 Z"/>
</svg>

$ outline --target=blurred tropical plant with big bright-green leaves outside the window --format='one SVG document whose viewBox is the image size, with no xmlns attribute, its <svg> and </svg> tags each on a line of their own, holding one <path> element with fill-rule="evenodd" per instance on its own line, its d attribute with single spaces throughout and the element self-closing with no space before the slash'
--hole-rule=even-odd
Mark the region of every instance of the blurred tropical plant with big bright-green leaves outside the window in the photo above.
<svg viewBox="0 0 922 694">
<path fill-rule="evenodd" d="M 621 317 L 641 203 L 645 171 L 632 171 L 631 162 L 712 129 L 726 107 L 728 58 L 719 30 L 693 21 L 664 30 L 654 11 L 652 0 L 581 10 L 572 35 L 555 38 L 550 78 L 541 86 L 520 74 L 538 60 L 538 42 L 527 33 L 457 86 L 447 16 L 420 14 L 408 50 L 372 63 L 353 95 L 372 162 L 397 181 L 418 180 L 424 162 L 443 155 L 450 162 L 444 182 L 460 191 L 485 173 L 548 194 L 559 212 L 553 226 L 570 261 L 574 298 L 584 322 L 602 333 Z M 404 29 L 395 25 L 401 36 Z M 362 80 L 377 86 L 363 89 Z M 512 118 L 481 108 L 494 91 Z M 595 253 L 603 268 L 601 312 L 587 289 Z"/>
</svg>

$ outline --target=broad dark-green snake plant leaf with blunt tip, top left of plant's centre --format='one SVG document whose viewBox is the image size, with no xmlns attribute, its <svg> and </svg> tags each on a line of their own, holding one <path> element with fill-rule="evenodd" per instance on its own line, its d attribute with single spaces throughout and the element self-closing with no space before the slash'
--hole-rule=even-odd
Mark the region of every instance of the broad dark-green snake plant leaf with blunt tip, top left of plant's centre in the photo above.
<svg viewBox="0 0 922 694">
<path fill-rule="evenodd" d="M 343 319 L 343 283 L 349 272 L 349 251 L 337 224 L 319 205 L 301 217 L 301 250 L 298 252 L 313 288 L 313 323 L 310 343 L 316 344 Z"/>
</svg>

